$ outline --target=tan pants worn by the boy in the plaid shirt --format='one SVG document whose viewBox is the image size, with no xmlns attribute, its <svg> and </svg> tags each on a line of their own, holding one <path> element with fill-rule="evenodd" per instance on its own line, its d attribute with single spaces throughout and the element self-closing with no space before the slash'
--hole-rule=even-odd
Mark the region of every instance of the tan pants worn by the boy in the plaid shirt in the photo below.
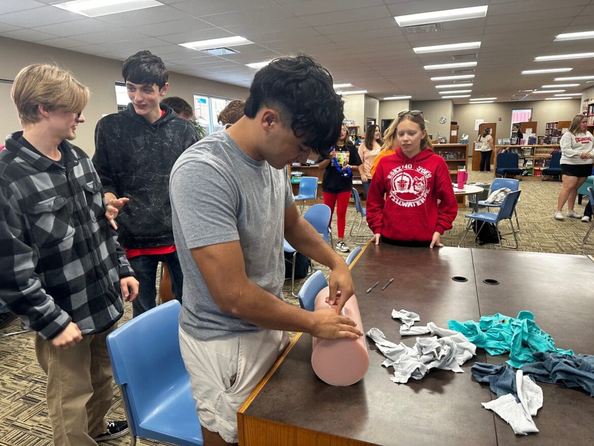
<svg viewBox="0 0 594 446">
<path fill-rule="evenodd" d="M 96 446 L 112 403 L 112 369 L 106 331 L 83 337 L 75 347 L 55 348 L 35 337 L 37 361 L 48 375 L 46 398 L 55 446 Z"/>
</svg>

